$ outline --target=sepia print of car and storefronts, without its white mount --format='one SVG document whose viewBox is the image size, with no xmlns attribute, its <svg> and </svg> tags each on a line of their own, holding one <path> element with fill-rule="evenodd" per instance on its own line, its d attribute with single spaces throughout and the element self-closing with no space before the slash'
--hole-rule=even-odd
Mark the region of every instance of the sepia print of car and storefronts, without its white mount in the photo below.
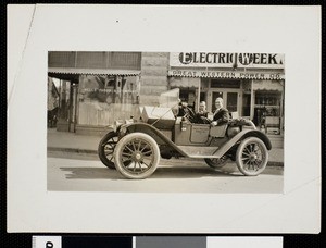
<svg viewBox="0 0 326 248">
<path fill-rule="evenodd" d="M 49 51 L 48 66 L 48 190 L 283 193 L 284 54 Z"/>
</svg>

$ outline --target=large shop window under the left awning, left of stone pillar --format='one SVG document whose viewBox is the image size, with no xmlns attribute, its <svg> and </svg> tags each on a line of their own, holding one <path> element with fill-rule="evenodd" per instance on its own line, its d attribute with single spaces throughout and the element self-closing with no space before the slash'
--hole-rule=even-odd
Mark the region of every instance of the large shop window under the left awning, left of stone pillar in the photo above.
<svg viewBox="0 0 326 248">
<path fill-rule="evenodd" d="M 139 103 L 139 78 L 84 76 L 79 87 L 82 125 L 109 125 L 115 120 L 129 119 Z"/>
</svg>

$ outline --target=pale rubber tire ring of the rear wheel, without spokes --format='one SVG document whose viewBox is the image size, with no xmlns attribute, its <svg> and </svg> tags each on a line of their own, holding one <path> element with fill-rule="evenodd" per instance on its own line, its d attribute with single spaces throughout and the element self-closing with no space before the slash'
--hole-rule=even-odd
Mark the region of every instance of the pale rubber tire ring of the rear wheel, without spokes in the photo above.
<svg viewBox="0 0 326 248">
<path fill-rule="evenodd" d="M 258 171 L 248 171 L 244 166 L 243 166 L 243 161 L 241 160 L 241 157 L 242 157 L 242 152 L 243 152 L 243 149 L 249 145 L 249 144 L 255 144 L 255 145 L 259 145 L 261 150 L 262 150 L 262 154 L 263 154 L 263 161 L 262 161 L 262 165 L 260 165 L 260 169 Z M 246 138 L 243 139 L 238 149 L 237 149 L 237 153 L 236 153 L 236 163 L 237 163 L 237 166 L 239 169 L 239 171 L 243 174 L 243 175 L 247 175 L 247 176 L 256 176 L 259 174 L 261 174 L 266 165 L 267 165 L 267 162 L 268 162 L 268 151 L 267 151 L 267 148 L 265 146 L 265 144 L 256 138 L 256 137 L 249 137 L 249 138 Z"/>
</svg>

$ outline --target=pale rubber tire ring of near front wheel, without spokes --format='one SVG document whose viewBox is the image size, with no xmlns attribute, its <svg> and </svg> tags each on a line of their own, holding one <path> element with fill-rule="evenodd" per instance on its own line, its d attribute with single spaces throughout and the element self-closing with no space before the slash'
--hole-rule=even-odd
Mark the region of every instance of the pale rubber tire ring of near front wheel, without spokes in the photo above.
<svg viewBox="0 0 326 248">
<path fill-rule="evenodd" d="M 147 171 L 145 171 L 143 173 L 134 174 L 134 173 L 129 172 L 125 168 L 124 163 L 122 162 L 122 153 L 124 151 L 124 147 L 127 144 L 130 144 L 133 140 L 137 140 L 137 139 L 142 139 L 142 141 L 146 141 L 150 146 L 152 153 L 153 153 L 152 154 L 153 161 L 152 161 L 151 166 Z M 160 149 L 159 149 L 156 141 L 151 136 L 143 134 L 143 133 L 133 133 L 133 134 L 126 135 L 117 142 L 117 145 L 115 147 L 115 151 L 114 151 L 114 162 L 115 162 L 116 170 L 126 178 L 143 179 L 146 177 L 149 177 L 156 170 L 159 162 L 160 162 Z"/>
</svg>

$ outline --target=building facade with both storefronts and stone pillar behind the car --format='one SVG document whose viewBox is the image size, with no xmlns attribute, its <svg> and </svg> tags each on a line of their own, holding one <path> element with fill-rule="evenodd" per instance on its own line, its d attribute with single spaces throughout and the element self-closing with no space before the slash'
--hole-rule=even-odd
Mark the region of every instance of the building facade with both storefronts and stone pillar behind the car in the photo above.
<svg viewBox="0 0 326 248">
<path fill-rule="evenodd" d="M 98 133 L 158 106 L 159 96 L 179 88 L 197 110 L 215 98 L 239 116 L 283 133 L 283 54 L 217 52 L 49 52 L 48 76 L 60 79 L 59 131 Z"/>
</svg>

